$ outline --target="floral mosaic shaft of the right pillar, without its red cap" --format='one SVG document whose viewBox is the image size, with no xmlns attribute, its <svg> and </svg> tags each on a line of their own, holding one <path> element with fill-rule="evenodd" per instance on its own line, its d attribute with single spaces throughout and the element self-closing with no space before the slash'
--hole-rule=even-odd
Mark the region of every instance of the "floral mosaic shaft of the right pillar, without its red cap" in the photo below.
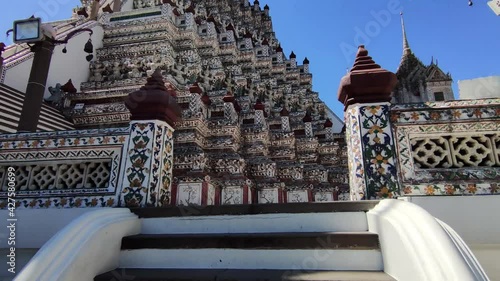
<svg viewBox="0 0 500 281">
<path fill-rule="evenodd" d="M 399 193 L 389 104 L 346 111 L 351 199 L 391 198 Z"/>
</svg>

